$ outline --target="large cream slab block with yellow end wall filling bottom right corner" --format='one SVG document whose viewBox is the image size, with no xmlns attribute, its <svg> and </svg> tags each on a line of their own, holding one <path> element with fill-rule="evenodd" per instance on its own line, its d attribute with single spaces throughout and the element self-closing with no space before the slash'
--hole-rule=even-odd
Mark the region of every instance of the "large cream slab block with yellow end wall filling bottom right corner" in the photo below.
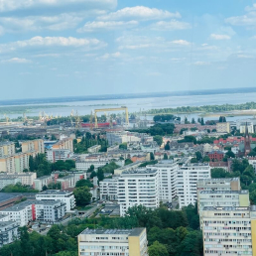
<svg viewBox="0 0 256 256">
<path fill-rule="evenodd" d="M 204 207 L 203 255 L 255 255 L 256 207 Z"/>
</svg>

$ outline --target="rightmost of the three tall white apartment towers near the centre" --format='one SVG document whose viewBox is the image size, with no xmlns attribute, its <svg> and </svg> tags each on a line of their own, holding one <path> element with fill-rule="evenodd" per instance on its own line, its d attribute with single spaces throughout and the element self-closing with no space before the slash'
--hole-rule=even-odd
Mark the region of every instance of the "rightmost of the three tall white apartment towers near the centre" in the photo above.
<svg viewBox="0 0 256 256">
<path fill-rule="evenodd" d="M 197 199 L 197 181 L 210 178 L 208 163 L 186 164 L 177 174 L 177 194 L 180 208 L 194 204 Z"/>
</svg>

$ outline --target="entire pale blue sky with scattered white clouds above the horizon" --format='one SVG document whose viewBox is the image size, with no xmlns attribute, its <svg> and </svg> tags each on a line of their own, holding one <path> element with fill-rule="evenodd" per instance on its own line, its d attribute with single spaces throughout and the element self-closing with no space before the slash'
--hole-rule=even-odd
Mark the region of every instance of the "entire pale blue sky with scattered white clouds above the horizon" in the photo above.
<svg viewBox="0 0 256 256">
<path fill-rule="evenodd" d="M 0 0 L 0 99 L 256 85 L 253 0 Z"/>
</svg>

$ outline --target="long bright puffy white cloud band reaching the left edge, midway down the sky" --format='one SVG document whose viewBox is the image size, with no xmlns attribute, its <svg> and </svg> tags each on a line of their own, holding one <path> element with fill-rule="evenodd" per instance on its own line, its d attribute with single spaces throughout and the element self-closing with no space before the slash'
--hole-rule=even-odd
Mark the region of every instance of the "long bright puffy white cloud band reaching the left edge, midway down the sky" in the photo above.
<svg viewBox="0 0 256 256">
<path fill-rule="evenodd" d="M 105 47 L 106 44 L 97 39 L 77 39 L 64 37 L 34 37 L 29 40 L 12 42 L 9 44 L 0 45 L 0 53 L 11 52 L 22 49 L 31 48 L 79 48 L 81 50 L 98 49 Z"/>
</svg>

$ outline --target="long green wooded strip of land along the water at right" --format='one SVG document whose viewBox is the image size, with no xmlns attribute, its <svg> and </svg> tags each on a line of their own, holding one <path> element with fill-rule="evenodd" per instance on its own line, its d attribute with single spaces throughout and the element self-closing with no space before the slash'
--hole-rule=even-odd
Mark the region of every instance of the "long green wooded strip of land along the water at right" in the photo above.
<svg viewBox="0 0 256 256">
<path fill-rule="evenodd" d="M 142 114 L 177 114 L 193 112 L 221 112 L 232 110 L 256 109 L 256 102 L 246 102 L 243 104 L 223 104 L 223 105 L 205 105 L 205 106 L 182 106 L 176 108 L 149 109 Z"/>
</svg>

